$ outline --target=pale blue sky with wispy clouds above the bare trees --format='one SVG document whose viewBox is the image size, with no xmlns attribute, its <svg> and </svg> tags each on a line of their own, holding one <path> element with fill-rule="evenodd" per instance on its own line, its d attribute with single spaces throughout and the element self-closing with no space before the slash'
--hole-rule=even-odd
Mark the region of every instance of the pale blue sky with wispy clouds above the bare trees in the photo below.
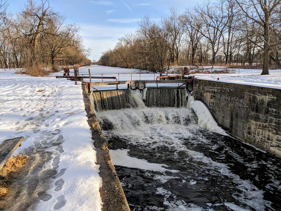
<svg viewBox="0 0 281 211">
<path fill-rule="evenodd" d="M 39 2 L 40 0 L 33 0 Z M 171 6 L 184 11 L 204 0 L 49 0 L 54 11 L 68 22 L 81 26 L 85 47 L 92 49 L 90 59 L 98 60 L 101 52 L 113 48 L 118 38 L 133 33 L 145 15 L 159 20 L 169 14 Z M 16 13 L 25 0 L 10 0 L 8 10 Z"/>
</svg>

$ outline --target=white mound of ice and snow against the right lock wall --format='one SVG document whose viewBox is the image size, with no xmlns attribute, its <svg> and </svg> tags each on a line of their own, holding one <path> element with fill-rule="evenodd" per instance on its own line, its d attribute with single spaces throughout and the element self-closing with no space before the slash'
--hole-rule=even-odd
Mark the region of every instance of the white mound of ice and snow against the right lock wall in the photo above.
<svg viewBox="0 0 281 211">
<path fill-rule="evenodd" d="M 221 127 L 217 125 L 209 109 L 201 101 L 195 101 L 194 97 L 189 95 L 187 107 L 192 108 L 198 117 L 198 125 L 201 128 L 206 128 L 211 132 L 216 132 L 227 136 L 228 134 Z"/>
</svg>

